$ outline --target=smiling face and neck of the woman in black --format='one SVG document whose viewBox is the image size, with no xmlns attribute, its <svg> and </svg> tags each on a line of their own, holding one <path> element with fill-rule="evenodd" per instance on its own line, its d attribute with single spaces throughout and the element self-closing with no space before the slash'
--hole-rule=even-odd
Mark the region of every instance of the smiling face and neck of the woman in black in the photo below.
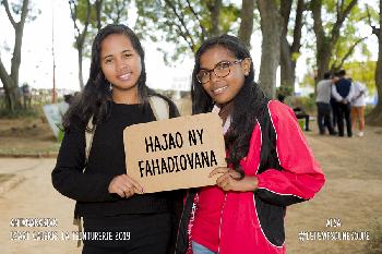
<svg viewBox="0 0 382 254">
<path fill-rule="evenodd" d="M 107 36 L 100 44 L 100 69 L 112 85 L 116 102 L 138 102 L 141 57 L 123 34 Z"/>
</svg>

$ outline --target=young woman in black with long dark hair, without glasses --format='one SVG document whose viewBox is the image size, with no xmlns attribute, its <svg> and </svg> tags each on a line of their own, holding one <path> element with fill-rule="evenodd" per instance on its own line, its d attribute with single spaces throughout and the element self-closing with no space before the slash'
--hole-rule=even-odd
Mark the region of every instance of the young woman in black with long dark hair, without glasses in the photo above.
<svg viewBox="0 0 382 254">
<path fill-rule="evenodd" d="M 144 51 L 124 25 L 102 28 L 93 41 L 89 77 L 64 116 L 65 134 L 52 171 L 53 186 L 76 201 L 84 221 L 83 253 L 169 252 L 175 193 L 144 194 L 126 169 L 123 130 L 155 121 L 150 97 L 160 97 L 169 118 L 176 106 L 146 86 Z M 91 123 L 89 123 L 91 122 Z M 88 158 L 85 132 L 93 141 Z"/>
</svg>

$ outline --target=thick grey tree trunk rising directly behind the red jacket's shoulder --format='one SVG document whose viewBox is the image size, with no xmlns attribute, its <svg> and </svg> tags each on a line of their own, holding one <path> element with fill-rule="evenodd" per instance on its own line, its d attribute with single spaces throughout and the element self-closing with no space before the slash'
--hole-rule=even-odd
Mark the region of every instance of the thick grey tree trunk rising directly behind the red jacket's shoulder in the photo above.
<svg viewBox="0 0 382 254">
<path fill-rule="evenodd" d="M 280 56 L 282 19 L 276 0 L 258 0 L 258 8 L 263 36 L 259 83 L 265 95 L 274 98 L 276 95 L 276 71 Z"/>
</svg>

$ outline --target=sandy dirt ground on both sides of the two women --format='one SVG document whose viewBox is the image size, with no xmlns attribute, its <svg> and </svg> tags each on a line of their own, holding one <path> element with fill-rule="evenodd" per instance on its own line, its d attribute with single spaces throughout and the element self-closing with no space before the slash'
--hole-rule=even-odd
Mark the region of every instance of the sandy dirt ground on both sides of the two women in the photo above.
<svg viewBox="0 0 382 254">
<path fill-rule="evenodd" d="M 315 132 L 306 134 L 326 174 L 326 184 L 312 201 L 287 209 L 288 253 L 363 253 L 366 241 L 299 241 L 299 232 L 370 231 L 373 218 L 382 222 L 382 129 L 368 128 L 362 138 L 319 136 Z M 0 173 L 16 173 L 24 178 L 22 183 L 0 196 L 0 253 L 80 253 L 73 240 L 10 240 L 12 230 L 76 230 L 72 226 L 74 202 L 51 186 L 53 165 L 55 159 L 0 158 Z M 57 218 L 59 227 L 12 228 L 12 218 Z M 341 227 L 325 227 L 330 218 L 339 219 Z"/>
</svg>

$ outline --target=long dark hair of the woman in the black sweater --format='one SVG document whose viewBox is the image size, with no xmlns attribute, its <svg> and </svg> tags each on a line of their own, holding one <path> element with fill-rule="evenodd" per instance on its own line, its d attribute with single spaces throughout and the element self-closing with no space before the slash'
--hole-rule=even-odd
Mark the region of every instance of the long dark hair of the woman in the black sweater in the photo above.
<svg viewBox="0 0 382 254">
<path fill-rule="evenodd" d="M 104 121 L 111 110 L 111 90 L 110 84 L 106 80 L 102 69 L 100 69 L 100 44 L 109 35 L 122 34 L 126 35 L 135 51 L 141 57 L 142 71 L 140 78 L 138 80 L 138 96 L 139 101 L 142 105 L 141 110 L 144 112 L 147 110 L 148 96 L 157 95 L 154 90 L 146 86 L 146 69 L 144 63 L 144 51 L 142 45 L 135 35 L 135 33 L 126 25 L 121 24 L 110 24 L 102 28 L 96 37 L 94 38 L 92 46 L 92 62 L 89 77 L 86 85 L 77 96 L 72 106 L 65 113 L 63 118 L 63 128 L 65 130 L 70 129 L 70 124 L 73 118 L 79 118 L 82 123 L 87 124 L 91 117 L 93 117 L 93 124 L 97 124 Z M 160 96 L 163 97 L 163 96 Z M 168 100 L 167 98 L 165 98 Z"/>
</svg>

